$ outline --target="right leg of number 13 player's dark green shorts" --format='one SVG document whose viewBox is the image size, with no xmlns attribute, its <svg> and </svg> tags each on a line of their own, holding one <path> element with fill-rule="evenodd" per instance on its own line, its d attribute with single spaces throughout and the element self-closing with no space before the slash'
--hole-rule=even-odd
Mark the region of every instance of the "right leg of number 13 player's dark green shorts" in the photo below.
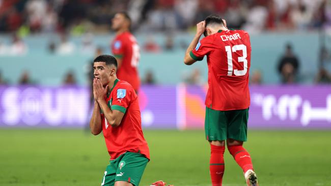
<svg viewBox="0 0 331 186">
<path fill-rule="evenodd" d="M 228 138 L 237 141 L 247 141 L 247 121 L 249 109 L 231 110 L 228 112 Z"/>
</svg>

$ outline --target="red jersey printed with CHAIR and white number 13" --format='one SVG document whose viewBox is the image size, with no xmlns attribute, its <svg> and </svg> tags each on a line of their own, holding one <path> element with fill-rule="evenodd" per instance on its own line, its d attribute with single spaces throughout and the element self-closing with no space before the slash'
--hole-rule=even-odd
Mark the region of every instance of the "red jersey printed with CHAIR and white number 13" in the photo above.
<svg viewBox="0 0 331 186">
<path fill-rule="evenodd" d="M 190 56 L 207 55 L 208 92 L 206 106 L 214 110 L 239 110 L 250 106 L 250 36 L 244 30 L 219 30 L 203 38 Z"/>
</svg>

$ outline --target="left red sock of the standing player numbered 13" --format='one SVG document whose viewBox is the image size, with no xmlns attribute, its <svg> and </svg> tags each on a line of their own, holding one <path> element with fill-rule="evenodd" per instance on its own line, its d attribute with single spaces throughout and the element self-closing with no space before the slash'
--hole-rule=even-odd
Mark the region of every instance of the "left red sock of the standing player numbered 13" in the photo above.
<svg viewBox="0 0 331 186">
<path fill-rule="evenodd" d="M 225 151 L 224 146 L 215 146 L 210 144 L 210 164 L 209 171 L 211 177 L 212 186 L 221 186 L 222 178 L 224 174 L 224 158 L 223 154 Z"/>
</svg>

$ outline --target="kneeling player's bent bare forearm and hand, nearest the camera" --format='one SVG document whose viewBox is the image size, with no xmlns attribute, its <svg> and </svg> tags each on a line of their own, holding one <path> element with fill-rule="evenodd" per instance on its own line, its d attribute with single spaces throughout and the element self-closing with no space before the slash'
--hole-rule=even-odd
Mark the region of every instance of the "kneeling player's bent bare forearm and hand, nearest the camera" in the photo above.
<svg viewBox="0 0 331 186">
<path fill-rule="evenodd" d="M 109 125 L 111 125 L 112 127 L 117 127 L 120 125 L 124 113 L 119 110 L 111 110 L 108 107 L 106 101 L 104 100 L 107 90 L 108 85 L 106 87 L 103 87 L 99 79 L 94 79 L 93 91 L 95 92 L 95 99 L 98 102 L 101 110 L 103 111 L 104 117 L 107 119 Z"/>
</svg>

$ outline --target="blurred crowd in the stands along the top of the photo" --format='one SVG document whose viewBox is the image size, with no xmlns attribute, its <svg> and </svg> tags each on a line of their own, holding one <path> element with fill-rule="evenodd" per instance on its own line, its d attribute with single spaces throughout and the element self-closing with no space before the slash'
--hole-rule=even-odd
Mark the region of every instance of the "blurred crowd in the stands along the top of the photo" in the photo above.
<svg viewBox="0 0 331 186">
<path fill-rule="evenodd" d="M 143 31 L 186 30 L 210 14 L 248 32 L 331 26 L 328 0 L 1 0 L 0 32 L 108 32 L 121 10 Z"/>
</svg>

